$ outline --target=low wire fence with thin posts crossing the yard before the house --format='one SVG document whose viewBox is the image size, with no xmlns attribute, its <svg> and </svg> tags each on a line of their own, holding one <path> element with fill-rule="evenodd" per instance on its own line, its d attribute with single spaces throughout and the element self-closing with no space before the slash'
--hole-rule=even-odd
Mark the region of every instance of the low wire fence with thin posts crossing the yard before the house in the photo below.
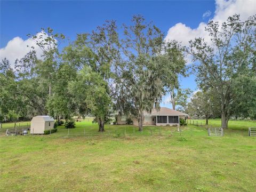
<svg viewBox="0 0 256 192">
<path fill-rule="evenodd" d="M 133 136 L 193 136 L 198 135 L 196 126 L 143 126 L 142 131 L 138 130 L 138 126 L 134 125 L 105 125 L 105 131 L 98 131 L 98 124 L 92 124 L 93 118 L 76 119 L 76 128 L 66 129 L 65 126 L 58 126 L 58 131 L 52 133 L 51 137 L 133 137 Z M 190 121 L 187 121 L 190 124 Z M 193 125 L 193 121 L 191 121 Z M 196 123 L 194 122 L 194 125 Z M 198 125 L 198 123 L 197 123 Z M 5 134 L 6 130 L 21 132 L 22 129 L 29 129 L 30 122 L 1 124 L 1 134 Z M 201 125 L 200 125 L 201 126 Z M 203 128 L 203 126 L 202 126 Z M 199 129 L 205 130 L 205 129 Z M 206 131 L 206 130 L 205 130 Z M 207 131 L 206 131 L 207 134 Z"/>
</svg>

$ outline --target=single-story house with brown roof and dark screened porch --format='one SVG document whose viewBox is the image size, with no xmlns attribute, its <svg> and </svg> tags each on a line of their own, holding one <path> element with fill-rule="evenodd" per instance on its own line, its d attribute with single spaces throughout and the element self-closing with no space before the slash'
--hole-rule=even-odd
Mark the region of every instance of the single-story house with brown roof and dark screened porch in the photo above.
<svg viewBox="0 0 256 192">
<path fill-rule="evenodd" d="M 153 109 L 151 114 L 144 111 L 143 125 L 180 125 L 180 118 L 186 118 L 188 114 L 182 113 L 177 110 L 173 110 L 167 107 L 161 107 L 159 111 Z M 131 118 L 133 125 L 138 125 L 138 119 L 126 116 L 118 115 L 117 124 L 126 124 L 127 118 Z"/>
</svg>

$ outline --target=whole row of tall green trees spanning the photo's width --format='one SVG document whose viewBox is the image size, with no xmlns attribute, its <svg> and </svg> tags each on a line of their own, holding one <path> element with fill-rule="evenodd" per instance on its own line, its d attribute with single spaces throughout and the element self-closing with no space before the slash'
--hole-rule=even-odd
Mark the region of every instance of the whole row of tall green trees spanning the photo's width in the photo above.
<svg viewBox="0 0 256 192">
<path fill-rule="evenodd" d="M 255 15 L 240 21 L 210 21 L 202 38 L 182 47 L 164 41 L 164 34 L 141 15 L 123 25 L 120 36 L 116 21 L 106 21 L 91 33 L 78 34 L 60 50 L 63 34 L 51 28 L 42 35 L 28 35 L 35 47 L 12 68 L 7 59 L 0 65 L 0 121 L 51 115 L 57 119 L 91 114 L 99 131 L 114 113 L 138 119 L 143 111 L 159 109 L 163 95 L 171 94 L 173 109 L 209 118 L 221 116 L 227 127 L 231 116 L 256 117 Z M 186 54 L 193 55 L 198 92 L 188 103 L 190 89 L 180 89 L 179 76 L 188 76 Z"/>
</svg>

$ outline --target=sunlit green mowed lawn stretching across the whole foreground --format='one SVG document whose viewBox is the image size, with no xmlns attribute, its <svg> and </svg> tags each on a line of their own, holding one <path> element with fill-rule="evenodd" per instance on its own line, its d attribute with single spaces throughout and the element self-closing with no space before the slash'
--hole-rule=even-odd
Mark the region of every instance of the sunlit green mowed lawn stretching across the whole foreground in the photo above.
<svg viewBox="0 0 256 192">
<path fill-rule="evenodd" d="M 90 121 L 69 136 L 61 126 L 6 137 L 12 125 L 3 124 L 0 191 L 255 191 L 256 137 L 246 126 L 256 123 L 236 122 L 222 138 L 193 125 L 106 125 L 101 134 Z"/>
</svg>

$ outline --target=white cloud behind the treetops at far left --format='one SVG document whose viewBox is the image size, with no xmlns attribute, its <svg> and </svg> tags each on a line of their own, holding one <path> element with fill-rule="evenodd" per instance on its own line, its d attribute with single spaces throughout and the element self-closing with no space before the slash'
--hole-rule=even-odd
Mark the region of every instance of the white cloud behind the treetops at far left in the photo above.
<svg viewBox="0 0 256 192">
<path fill-rule="evenodd" d="M 43 35 L 43 38 L 47 37 L 47 35 L 43 34 L 42 32 L 37 33 L 36 35 Z M 7 58 L 10 61 L 11 66 L 13 67 L 15 60 L 24 57 L 31 50 L 31 46 L 35 47 L 37 57 L 41 58 L 43 51 L 36 45 L 36 43 L 31 38 L 23 40 L 20 37 L 14 37 L 13 39 L 11 39 L 11 41 L 7 43 L 5 47 L 0 49 L 0 59 L 2 61 L 2 59 Z"/>
</svg>

